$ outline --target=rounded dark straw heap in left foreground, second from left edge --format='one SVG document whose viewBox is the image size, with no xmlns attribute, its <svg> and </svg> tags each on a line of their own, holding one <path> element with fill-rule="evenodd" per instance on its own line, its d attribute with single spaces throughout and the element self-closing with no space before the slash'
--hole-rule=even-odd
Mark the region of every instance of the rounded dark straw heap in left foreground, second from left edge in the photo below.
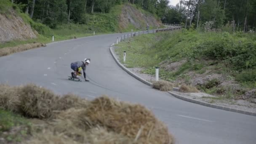
<svg viewBox="0 0 256 144">
<path fill-rule="evenodd" d="M 28 84 L 21 88 L 21 109 L 28 117 L 49 118 L 57 105 L 59 96 L 52 91 Z"/>
</svg>

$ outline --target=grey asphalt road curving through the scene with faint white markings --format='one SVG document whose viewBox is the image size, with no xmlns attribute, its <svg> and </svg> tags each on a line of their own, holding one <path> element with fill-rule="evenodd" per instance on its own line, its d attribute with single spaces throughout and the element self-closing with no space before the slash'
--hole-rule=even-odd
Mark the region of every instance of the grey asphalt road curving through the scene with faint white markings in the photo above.
<svg viewBox="0 0 256 144">
<path fill-rule="evenodd" d="M 177 144 L 255 144 L 256 117 L 176 99 L 128 75 L 109 46 L 121 34 L 83 37 L 0 57 L 0 83 L 35 83 L 58 94 L 72 92 L 94 99 L 101 94 L 140 103 L 164 121 Z M 72 61 L 91 58 L 88 82 L 67 80 Z"/>
</svg>

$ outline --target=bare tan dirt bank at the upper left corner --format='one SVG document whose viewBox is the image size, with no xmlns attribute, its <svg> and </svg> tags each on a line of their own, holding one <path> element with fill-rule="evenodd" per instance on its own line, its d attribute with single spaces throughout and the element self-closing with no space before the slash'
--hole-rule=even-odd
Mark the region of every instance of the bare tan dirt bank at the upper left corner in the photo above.
<svg viewBox="0 0 256 144">
<path fill-rule="evenodd" d="M 10 40 L 28 40 L 37 37 L 29 24 L 10 10 L 8 14 L 0 14 L 0 43 Z"/>
</svg>

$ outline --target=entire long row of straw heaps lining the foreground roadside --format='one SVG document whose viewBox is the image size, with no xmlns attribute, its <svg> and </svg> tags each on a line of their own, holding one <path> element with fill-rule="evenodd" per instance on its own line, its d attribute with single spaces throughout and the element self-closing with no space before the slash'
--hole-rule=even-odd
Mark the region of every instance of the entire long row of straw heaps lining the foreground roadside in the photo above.
<svg viewBox="0 0 256 144">
<path fill-rule="evenodd" d="M 24 144 L 174 144 L 167 126 L 140 104 L 61 97 L 34 84 L 0 88 L 1 108 L 45 121 Z"/>
</svg>

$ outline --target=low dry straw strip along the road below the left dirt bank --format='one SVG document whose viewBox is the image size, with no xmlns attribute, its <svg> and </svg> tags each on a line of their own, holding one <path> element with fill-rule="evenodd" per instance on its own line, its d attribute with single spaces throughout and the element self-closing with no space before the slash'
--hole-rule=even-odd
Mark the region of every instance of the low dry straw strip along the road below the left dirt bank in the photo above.
<svg viewBox="0 0 256 144">
<path fill-rule="evenodd" d="M 16 47 L 7 47 L 7 48 L 0 48 L 0 56 L 6 56 L 11 53 L 17 53 L 20 51 L 26 51 L 32 48 L 39 48 L 45 47 L 46 45 L 43 43 L 28 43 L 23 45 L 18 45 Z"/>
</svg>

